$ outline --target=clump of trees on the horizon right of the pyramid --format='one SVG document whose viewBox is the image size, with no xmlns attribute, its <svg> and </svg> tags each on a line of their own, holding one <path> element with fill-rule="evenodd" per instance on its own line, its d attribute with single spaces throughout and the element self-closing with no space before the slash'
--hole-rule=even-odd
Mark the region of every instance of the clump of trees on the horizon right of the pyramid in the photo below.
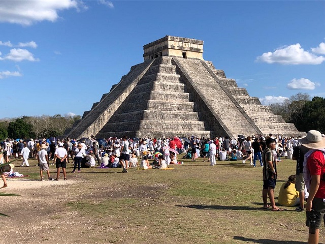
<svg viewBox="0 0 325 244">
<path fill-rule="evenodd" d="M 317 130 L 325 133 L 325 99 L 298 93 L 283 103 L 270 105 L 273 113 L 282 115 L 286 123 L 293 123 L 299 131 Z"/>
</svg>

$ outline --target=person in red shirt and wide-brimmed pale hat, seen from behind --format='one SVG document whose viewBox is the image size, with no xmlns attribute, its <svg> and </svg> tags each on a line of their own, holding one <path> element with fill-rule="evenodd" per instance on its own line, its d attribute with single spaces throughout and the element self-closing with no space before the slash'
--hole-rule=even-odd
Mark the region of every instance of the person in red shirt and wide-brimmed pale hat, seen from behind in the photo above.
<svg viewBox="0 0 325 244">
<path fill-rule="evenodd" d="M 311 149 L 306 154 L 307 170 L 311 176 L 306 225 L 309 226 L 308 243 L 318 243 L 320 223 L 325 214 L 325 138 L 319 131 L 311 130 L 299 142 Z"/>
</svg>

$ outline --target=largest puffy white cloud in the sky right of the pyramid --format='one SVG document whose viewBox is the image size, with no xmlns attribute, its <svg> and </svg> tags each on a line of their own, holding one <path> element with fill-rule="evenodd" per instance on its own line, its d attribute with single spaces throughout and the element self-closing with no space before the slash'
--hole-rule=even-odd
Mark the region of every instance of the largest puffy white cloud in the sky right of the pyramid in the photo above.
<svg viewBox="0 0 325 244">
<path fill-rule="evenodd" d="M 324 60 L 323 56 L 316 56 L 305 51 L 299 43 L 287 47 L 281 47 L 274 52 L 265 52 L 256 58 L 259 62 L 282 65 L 319 65 Z"/>
</svg>

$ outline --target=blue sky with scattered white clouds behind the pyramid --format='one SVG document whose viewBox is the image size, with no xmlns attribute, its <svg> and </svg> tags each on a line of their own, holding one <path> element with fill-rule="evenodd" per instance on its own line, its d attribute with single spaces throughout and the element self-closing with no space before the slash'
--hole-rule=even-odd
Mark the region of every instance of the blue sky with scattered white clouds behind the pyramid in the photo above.
<svg viewBox="0 0 325 244">
<path fill-rule="evenodd" d="M 323 1 L 0 0 L 0 118 L 79 114 L 166 35 L 263 104 L 325 97 Z"/>
</svg>

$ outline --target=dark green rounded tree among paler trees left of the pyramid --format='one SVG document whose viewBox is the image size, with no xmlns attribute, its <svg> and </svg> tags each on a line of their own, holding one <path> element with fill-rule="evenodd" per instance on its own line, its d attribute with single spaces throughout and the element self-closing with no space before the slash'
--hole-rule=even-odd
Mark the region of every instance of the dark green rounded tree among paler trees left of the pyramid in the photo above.
<svg viewBox="0 0 325 244">
<path fill-rule="evenodd" d="M 15 121 L 9 123 L 8 136 L 11 138 L 29 138 L 34 136 L 32 133 L 32 125 L 28 124 L 25 119 L 17 118 Z"/>
</svg>

